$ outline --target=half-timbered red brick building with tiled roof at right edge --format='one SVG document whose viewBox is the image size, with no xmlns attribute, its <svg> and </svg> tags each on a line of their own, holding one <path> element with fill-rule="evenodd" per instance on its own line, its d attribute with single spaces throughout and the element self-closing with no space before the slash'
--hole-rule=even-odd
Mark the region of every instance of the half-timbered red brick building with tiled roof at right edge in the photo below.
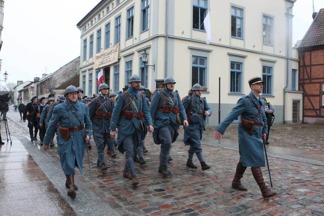
<svg viewBox="0 0 324 216">
<path fill-rule="evenodd" d="M 303 91 L 303 123 L 324 123 L 324 8 L 313 13 L 313 22 L 298 46 L 299 79 Z M 294 73 L 294 71 L 293 71 Z M 295 76 L 297 71 L 295 71 Z M 293 104 L 294 107 L 294 104 Z"/>
</svg>

